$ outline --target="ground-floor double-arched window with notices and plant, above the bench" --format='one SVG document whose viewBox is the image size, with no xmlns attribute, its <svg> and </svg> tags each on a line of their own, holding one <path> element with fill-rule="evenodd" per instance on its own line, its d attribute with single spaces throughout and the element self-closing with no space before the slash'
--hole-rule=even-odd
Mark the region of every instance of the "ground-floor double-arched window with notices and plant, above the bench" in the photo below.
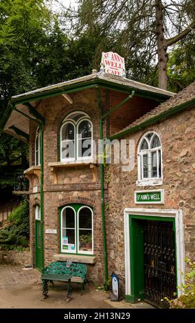
<svg viewBox="0 0 195 323">
<path fill-rule="evenodd" d="M 61 212 L 61 252 L 93 254 L 93 211 L 87 205 L 67 205 Z"/>
</svg>

